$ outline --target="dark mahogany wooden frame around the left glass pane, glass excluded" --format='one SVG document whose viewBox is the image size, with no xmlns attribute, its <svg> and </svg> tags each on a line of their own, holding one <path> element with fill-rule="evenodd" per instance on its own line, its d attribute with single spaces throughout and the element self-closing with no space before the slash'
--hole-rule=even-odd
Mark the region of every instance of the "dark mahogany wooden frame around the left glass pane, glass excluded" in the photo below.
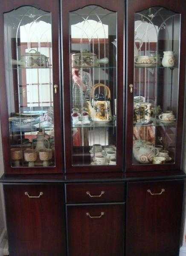
<svg viewBox="0 0 186 256">
<path fill-rule="evenodd" d="M 42 9 L 50 12 L 52 16 L 52 69 L 53 69 L 53 85 L 58 85 L 58 94 L 54 93 L 53 88 L 53 105 L 54 105 L 54 128 L 55 128 L 55 167 L 11 167 L 10 159 L 10 143 L 9 143 L 9 115 L 6 94 L 6 78 L 5 78 L 5 56 L 4 49 L 0 47 L 0 119 L 1 119 L 1 132 L 3 142 L 3 160 L 6 174 L 39 174 L 39 173 L 60 173 L 64 168 L 62 159 L 62 118 L 61 118 L 61 71 L 60 66 L 60 4 L 58 0 L 54 0 L 51 4 L 49 0 L 7 0 L 1 1 L 0 10 L 0 44 L 4 45 L 4 22 L 3 14 L 11 12 L 23 6 L 33 6 L 37 9 Z"/>
</svg>

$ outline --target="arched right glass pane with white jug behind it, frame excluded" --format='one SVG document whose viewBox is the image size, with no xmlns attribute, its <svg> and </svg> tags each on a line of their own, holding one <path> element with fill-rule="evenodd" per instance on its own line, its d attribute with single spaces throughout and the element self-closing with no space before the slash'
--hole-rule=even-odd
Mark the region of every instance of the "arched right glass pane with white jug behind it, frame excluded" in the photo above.
<svg viewBox="0 0 186 256">
<path fill-rule="evenodd" d="M 180 14 L 162 7 L 135 13 L 133 164 L 175 161 Z"/>
</svg>

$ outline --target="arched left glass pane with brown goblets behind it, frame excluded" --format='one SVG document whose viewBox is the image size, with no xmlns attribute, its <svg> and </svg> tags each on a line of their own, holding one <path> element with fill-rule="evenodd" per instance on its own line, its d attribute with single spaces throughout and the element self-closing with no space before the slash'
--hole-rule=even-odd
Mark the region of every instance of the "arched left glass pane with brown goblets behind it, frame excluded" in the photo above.
<svg viewBox="0 0 186 256">
<path fill-rule="evenodd" d="M 12 167 L 55 166 L 51 13 L 4 14 Z"/>
</svg>

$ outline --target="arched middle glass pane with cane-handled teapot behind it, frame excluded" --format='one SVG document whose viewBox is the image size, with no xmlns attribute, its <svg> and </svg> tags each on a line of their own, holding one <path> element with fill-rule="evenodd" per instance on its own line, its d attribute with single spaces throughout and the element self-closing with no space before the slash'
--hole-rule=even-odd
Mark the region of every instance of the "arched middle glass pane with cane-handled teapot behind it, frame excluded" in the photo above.
<svg viewBox="0 0 186 256">
<path fill-rule="evenodd" d="M 116 165 L 117 14 L 70 12 L 73 165 Z"/>
</svg>

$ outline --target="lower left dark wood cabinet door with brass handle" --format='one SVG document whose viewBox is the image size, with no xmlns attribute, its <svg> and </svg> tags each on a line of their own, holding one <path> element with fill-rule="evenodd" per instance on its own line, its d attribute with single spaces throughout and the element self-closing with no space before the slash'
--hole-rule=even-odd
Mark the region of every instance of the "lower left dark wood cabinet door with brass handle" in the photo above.
<svg viewBox="0 0 186 256">
<path fill-rule="evenodd" d="M 10 256 L 65 256 L 62 185 L 3 185 Z"/>
</svg>

